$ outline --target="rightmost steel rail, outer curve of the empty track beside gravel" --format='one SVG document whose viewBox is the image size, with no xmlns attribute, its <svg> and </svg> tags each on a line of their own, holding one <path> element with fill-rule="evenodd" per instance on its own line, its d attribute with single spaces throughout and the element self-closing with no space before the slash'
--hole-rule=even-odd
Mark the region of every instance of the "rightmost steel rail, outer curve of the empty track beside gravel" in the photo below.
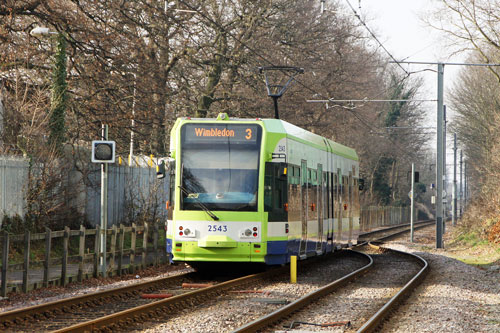
<svg viewBox="0 0 500 333">
<path fill-rule="evenodd" d="M 427 261 L 416 254 L 388 249 L 384 247 L 381 248 L 413 257 L 422 264 L 422 269 L 420 269 L 420 271 L 406 285 L 404 285 L 403 288 L 401 288 L 396 293 L 396 295 L 394 295 L 387 303 L 385 303 L 384 306 L 377 311 L 377 313 L 375 313 L 368 321 L 366 321 L 365 324 L 361 326 L 359 330 L 357 330 L 358 333 L 374 331 L 382 322 L 382 320 L 387 316 L 388 312 L 392 310 L 396 306 L 396 304 L 401 301 L 406 295 L 408 295 L 411 290 L 422 281 L 425 274 L 427 274 L 427 272 L 429 271 L 429 264 L 427 263 Z"/>
</svg>

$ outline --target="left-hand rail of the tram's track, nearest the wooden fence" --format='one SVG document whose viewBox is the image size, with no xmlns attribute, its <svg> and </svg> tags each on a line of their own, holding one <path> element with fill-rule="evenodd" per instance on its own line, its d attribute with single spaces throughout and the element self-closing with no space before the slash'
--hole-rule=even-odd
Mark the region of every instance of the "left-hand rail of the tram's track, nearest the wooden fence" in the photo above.
<svg viewBox="0 0 500 333">
<path fill-rule="evenodd" d="M 151 280 L 142 283 L 136 283 L 133 285 L 124 286 L 120 288 L 103 290 L 92 294 L 86 294 L 62 300 L 52 301 L 48 303 L 43 303 L 39 305 L 34 305 L 22 309 L 7 311 L 0 314 L 0 327 L 9 326 L 9 324 L 12 322 L 32 319 L 32 317 L 36 317 L 37 315 L 44 315 L 46 313 L 50 313 L 53 311 L 58 311 L 61 309 L 65 308 L 67 309 L 73 306 L 78 306 L 80 304 L 91 303 L 99 299 L 106 299 L 108 297 L 117 297 L 119 295 L 127 295 L 137 290 L 151 288 L 155 285 L 170 283 L 182 278 L 189 278 L 191 275 L 194 275 L 194 273 L 188 272 L 180 275 L 172 275 L 165 278 Z"/>
</svg>

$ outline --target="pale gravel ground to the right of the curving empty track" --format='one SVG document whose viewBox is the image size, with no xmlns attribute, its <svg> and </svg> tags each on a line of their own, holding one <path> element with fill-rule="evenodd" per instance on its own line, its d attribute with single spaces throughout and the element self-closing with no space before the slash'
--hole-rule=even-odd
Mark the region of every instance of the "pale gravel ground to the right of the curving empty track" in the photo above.
<svg viewBox="0 0 500 333">
<path fill-rule="evenodd" d="M 435 249 L 435 229 L 416 235 L 414 244 L 394 241 L 389 247 L 420 255 L 431 271 L 381 331 L 500 332 L 500 271 L 464 264 L 446 249 Z"/>
</svg>

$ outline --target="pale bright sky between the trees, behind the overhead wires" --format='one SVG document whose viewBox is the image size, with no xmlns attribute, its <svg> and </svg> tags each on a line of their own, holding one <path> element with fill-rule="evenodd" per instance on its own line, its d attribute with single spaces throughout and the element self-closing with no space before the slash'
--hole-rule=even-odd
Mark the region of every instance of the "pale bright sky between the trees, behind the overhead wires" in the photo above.
<svg viewBox="0 0 500 333">
<path fill-rule="evenodd" d="M 422 62 L 462 62 L 464 56 L 451 56 L 446 47 L 442 32 L 429 27 L 422 17 L 427 17 L 435 7 L 435 0 L 345 0 L 349 1 L 356 11 L 361 12 L 366 25 L 382 42 L 384 47 L 397 60 Z M 361 8 L 360 8 L 361 7 Z M 349 12 L 352 14 L 351 9 Z M 394 65 L 397 66 L 397 65 Z M 437 65 L 403 65 L 408 71 L 424 68 L 437 69 Z M 457 80 L 460 66 L 445 66 L 444 71 L 444 104 L 447 91 Z M 437 98 L 437 74 L 425 71 L 417 74 L 424 80 L 423 99 Z M 435 102 L 425 103 L 427 121 L 423 126 L 435 126 Z M 447 118 L 451 120 L 453 110 L 447 109 Z"/>
</svg>

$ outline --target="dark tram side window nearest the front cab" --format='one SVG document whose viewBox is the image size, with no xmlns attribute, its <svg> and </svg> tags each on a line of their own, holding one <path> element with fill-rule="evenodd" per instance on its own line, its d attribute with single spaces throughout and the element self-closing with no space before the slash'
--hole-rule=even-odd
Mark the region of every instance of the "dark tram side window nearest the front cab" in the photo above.
<svg viewBox="0 0 500 333">
<path fill-rule="evenodd" d="M 264 210 L 269 213 L 269 222 L 288 221 L 285 209 L 287 203 L 287 175 L 283 173 L 286 164 L 266 163 L 264 181 Z"/>
</svg>

